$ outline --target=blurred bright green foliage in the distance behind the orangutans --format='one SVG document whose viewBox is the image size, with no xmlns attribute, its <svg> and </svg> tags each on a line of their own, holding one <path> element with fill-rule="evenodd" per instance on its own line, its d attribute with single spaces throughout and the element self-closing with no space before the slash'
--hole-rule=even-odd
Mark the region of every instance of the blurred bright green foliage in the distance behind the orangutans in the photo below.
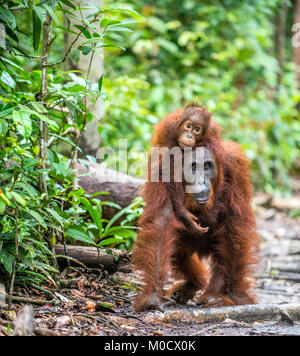
<svg viewBox="0 0 300 356">
<path fill-rule="evenodd" d="M 140 110 L 162 118 L 190 101 L 206 104 L 222 125 L 224 138 L 238 141 L 253 160 L 256 187 L 270 193 L 288 188 L 300 141 L 295 108 L 300 97 L 290 62 L 289 22 L 287 60 L 280 90 L 277 87 L 275 39 L 281 4 L 281 0 L 127 0 L 125 5 L 142 15 L 125 44 L 122 41 L 127 51 L 106 56 L 112 82 L 126 73 L 148 86 L 146 103 L 138 103 Z M 119 34 L 113 40 L 121 41 Z M 127 87 L 139 90 L 136 97 L 144 97 L 133 82 Z M 128 102 L 126 107 L 122 100 L 114 117 L 122 117 L 122 125 L 130 127 L 131 101 L 123 93 L 123 88 L 114 88 L 114 96 Z M 109 111 L 107 117 L 111 116 Z M 145 125 L 144 138 L 136 139 L 136 145 L 148 143 L 147 116 Z"/>
</svg>

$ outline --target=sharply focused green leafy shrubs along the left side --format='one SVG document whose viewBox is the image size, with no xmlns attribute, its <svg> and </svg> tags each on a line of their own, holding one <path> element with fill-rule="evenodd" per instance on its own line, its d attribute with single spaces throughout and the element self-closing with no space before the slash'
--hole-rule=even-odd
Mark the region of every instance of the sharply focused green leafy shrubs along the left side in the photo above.
<svg viewBox="0 0 300 356">
<path fill-rule="evenodd" d="M 0 3 L 0 22 L 7 33 L 6 49 L 0 52 L 0 271 L 12 281 L 16 276 L 17 282 L 55 283 L 53 245 L 58 240 L 100 248 L 125 246 L 135 238 L 126 215 L 137 211 L 140 202 L 123 210 L 115 205 L 120 212 L 106 221 L 102 207 L 112 203 L 88 196 L 76 185 L 73 163 L 80 152 L 79 138 L 93 120 L 87 102 L 103 95 L 103 76 L 95 86 L 89 72 L 86 77 L 63 72 L 60 64 L 68 55 L 78 62 L 88 53 L 99 54 L 106 46 L 106 32 L 118 25 L 105 22 L 109 11 L 98 7 L 88 18 L 79 17 L 73 11 L 78 6 L 73 0 Z M 59 26 L 62 14 L 77 24 Z M 25 34 L 20 30 L 22 19 L 27 25 L 31 19 L 32 34 L 28 28 Z M 84 42 L 74 42 L 64 57 L 57 52 L 52 56 L 56 34 L 65 31 Z M 47 34 L 51 42 L 45 41 Z M 69 156 L 60 153 L 61 142 L 70 146 Z M 118 219 L 128 224 L 112 226 Z"/>
</svg>

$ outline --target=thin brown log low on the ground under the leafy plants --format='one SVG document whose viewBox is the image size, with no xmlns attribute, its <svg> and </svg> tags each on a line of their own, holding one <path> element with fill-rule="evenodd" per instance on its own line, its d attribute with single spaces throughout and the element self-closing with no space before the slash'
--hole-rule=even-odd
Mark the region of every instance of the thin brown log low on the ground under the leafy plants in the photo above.
<svg viewBox="0 0 300 356">
<path fill-rule="evenodd" d="M 65 255 L 63 245 L 55 245 L 54 248 L 56 255 Z M 96 247 L 68 245 L 67 256 L 72 257 L 72 259 L 75 259 L 90 268 L 103 267 L 109 273 L 114 273 L 116 271 L 130 271 L 130 257 L 126 251 L 114 249 L 112 254 L 108 254 L 105 250 L 98 250 Z M 63 257 L 59 257 L 57 262 L 62 267 L 67 264 L 66 259 Z M 71 265 L 78 266 L 74 260 L 70 262 Z"/>
</svg>

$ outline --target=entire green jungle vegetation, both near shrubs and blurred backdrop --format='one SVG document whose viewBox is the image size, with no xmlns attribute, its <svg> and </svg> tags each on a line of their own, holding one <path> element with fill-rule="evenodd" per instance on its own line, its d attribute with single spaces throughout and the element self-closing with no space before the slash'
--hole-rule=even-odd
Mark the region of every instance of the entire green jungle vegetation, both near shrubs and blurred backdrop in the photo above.
<svg viewBox="0 0 300 356">
<path fill-rule="evenodd" d="M 57 243 L 131 249 L 141 199 L 124 207 L 91 194 L 76 164 L 95 164 L 100 147 L 118 151 L 125 138 L 129 162 L 145 166 L 153 125 L 189 102 L 205 104 L 223 138 L 241 144 L 256 193 L 293 199 L 297 23 L 300 1 L 0 1 L 0 281 L 9 306 L 18 286 L 58 287 Z M 131 173 L 123 163 L 106 161 Z M 299 217 L 297 204 L 288 214 Z"/>
</svg>

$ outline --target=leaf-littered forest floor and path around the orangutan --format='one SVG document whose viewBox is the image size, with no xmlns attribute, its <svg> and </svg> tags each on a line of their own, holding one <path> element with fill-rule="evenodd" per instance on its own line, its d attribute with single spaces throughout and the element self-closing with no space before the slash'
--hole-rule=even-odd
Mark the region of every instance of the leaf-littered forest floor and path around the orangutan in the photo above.
<svg viewBox="0 0 300 356">
<path fill-rule="evenodd" d="M 258 232 L 262 238 L 261 264 L 256 274 L 258 304 L 300 308 L 300 218 L 274 208 L 256 206 Z M 107 275 L 101 270 L 66 269 L 62 273 L 68 288 L 51 296 L 36 289 L 20 289 L 18 295 L 44 301 L 34 305 L 35 334 L 41 335 L 102 335 L 102 336 L 196 336 L 196 335 L 300 335 L 300 322 L 285 312 L 262 314 L 247 320 L 242 317 L 217 315 L 212 321 L 199 317 L 207 309 L 189 303 L 170 306 L 165 313 L 135 313 L 132 300 L 140 279 L 132 273 Z M 45 287 L 47 288 L 47 287 Z M 13 333 L 9 324 L 15 312 L 0 308 L 0 335 Z M 211 308 L 211 312 L 224 308 Z M 226 307 L 225 307 L 226 309 Z M 198 314 L 197 314 L 198 313 Z M 222 313 L 221 313 L 222 314 Z M 298 313 L 299 314 L 299 313 Z M 197 316 L 198 315 L 198 316 Z M 298 315 L 299 316 L 299 315 Z M 297 318 L 299 320 L 299 318 Z"/>
</svg>

